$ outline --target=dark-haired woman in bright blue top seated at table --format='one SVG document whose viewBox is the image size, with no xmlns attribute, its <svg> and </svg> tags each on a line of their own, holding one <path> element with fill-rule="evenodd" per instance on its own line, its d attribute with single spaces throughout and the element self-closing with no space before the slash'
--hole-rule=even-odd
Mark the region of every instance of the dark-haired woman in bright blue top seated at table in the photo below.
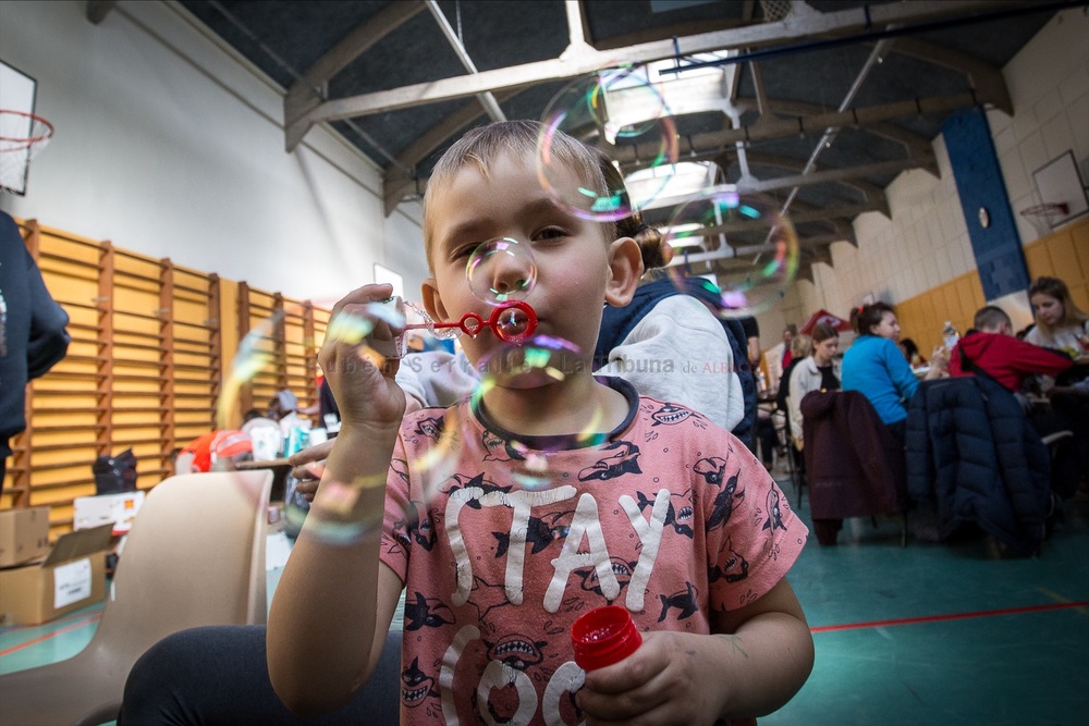
<svg viewBox="0 0 1089 726">
<path fill-rule="evenodd" d="M 907 402 L 919 386 L 896 342 L 900 323 L 888 303 L 867 305 L 858 313 L 858 339 L 843 356 L 843 390 L 858 391 L 869 399 L 889 431 L 903 443 L 907 429 Z M 927 379 L 945 373 L 949 359 L 934 356 Z"/>
</svg>

